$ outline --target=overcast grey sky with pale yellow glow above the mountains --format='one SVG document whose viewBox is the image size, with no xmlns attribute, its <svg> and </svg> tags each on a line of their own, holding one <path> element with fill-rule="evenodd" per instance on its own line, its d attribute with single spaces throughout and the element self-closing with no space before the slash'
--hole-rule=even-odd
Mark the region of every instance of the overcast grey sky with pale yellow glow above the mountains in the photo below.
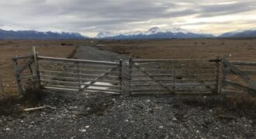
<svg viewBox="0 0 256 139">
<path fill-rule="evenodd" d="M 86 36 L 154 26 L 214 34 L 256 28 L 256 0 L 1 0 L 0 13 L 5 29 Z"/>
</svg>

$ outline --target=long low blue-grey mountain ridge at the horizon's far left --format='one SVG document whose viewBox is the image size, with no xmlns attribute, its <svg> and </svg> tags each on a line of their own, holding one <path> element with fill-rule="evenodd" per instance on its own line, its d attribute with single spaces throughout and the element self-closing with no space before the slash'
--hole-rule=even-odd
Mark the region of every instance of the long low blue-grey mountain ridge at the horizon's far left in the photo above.
<svg viewBox="0 0 256 139">
<path fill-rule="evenodd" d="M 0 39 L 87 39 L 76 32 L 7 31 L 0 29 Z"/>
</svg>

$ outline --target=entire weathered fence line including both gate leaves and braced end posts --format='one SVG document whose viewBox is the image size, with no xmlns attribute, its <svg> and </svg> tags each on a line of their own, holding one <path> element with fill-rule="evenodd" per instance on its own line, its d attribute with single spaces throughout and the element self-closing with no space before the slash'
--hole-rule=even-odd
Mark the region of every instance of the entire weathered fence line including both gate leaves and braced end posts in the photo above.
<svg viewBox="0 0 256 139">
<path fill-rule="evenodd" d="M 255 62 L 216 59 L 130 59 L 124 75 L 123 62 L 84 59 L 63 59 L 38 56 L 35 49 L 29 56 L 13 59 L 19 92 L 43 86 L 48 90 L 85 93 L 132 94 L 219 94 L 248 92 L 255 94 L 256 83 L 249 75 L 255 69 L 240 70 L 237 66 L 255 66 Z M 26 63 L 20 64 L 19 60 Z M 247 86 L 230 80 L 240 76 Z M 123 77 L 127 76 L 127 79 Z M 256 78 L 255 78 L 256 79 Z M 29 83 L 27 83 L 29 81 Z M 125 86 L 128 86 L 126 90 Z M 227 86 L 232 86 L 227 88 Z M 238 89 L 238 90 L 234 90 Z M 126 90 L 126 91 L 125 91 Z"/>
</svg>

